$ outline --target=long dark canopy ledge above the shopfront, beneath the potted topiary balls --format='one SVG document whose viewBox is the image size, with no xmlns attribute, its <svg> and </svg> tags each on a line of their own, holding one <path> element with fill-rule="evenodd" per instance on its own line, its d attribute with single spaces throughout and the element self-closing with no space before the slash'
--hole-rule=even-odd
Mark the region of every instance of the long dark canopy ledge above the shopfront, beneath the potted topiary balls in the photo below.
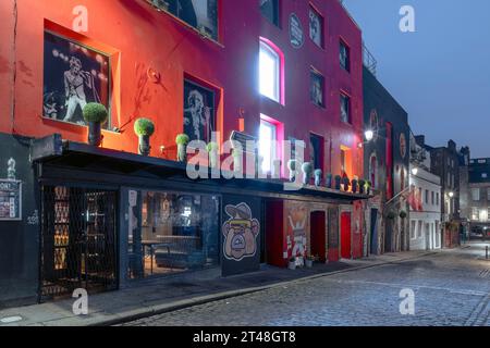
<svg viewBox="0 0 490 348">
<path fill-rule="evenodd" d="M 98 183 L 137 185 L 148 188 L 157 185 L 179 189 L 197 189 L 212 194 L 240 194 L 271 199 L 316 200 L 336 203 L 352 203 L 356 200 L 372 197 L 311 185 L 305 185 L 298 190 L 285 190 L 284 184 L 286 182 L 280 179 L 225 179 L 223 177 L 191 179 L 186 174 L 185 163 L 62 140 L 60 135 L 34 140 L 30 153 L 33 162 L 56 169 L 51 170 L 51 175 L 60 179 L 63 177 L 63 170 L 69 170 L 79 171 L 81 179 L 83 174 L 86 179 Z"/>
</svg>

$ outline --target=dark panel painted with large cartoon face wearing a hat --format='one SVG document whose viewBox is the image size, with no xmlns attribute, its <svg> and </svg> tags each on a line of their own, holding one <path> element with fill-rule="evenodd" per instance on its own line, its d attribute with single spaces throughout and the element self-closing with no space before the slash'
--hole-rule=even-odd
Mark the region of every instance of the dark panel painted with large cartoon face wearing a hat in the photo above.
<svg viewBox="0 0 490 348">
<path fill-rule="evenodd" d="M 260 200 L 223 197 L 223 276 L 258 271 L 260 268 Z"/>
</svg>

